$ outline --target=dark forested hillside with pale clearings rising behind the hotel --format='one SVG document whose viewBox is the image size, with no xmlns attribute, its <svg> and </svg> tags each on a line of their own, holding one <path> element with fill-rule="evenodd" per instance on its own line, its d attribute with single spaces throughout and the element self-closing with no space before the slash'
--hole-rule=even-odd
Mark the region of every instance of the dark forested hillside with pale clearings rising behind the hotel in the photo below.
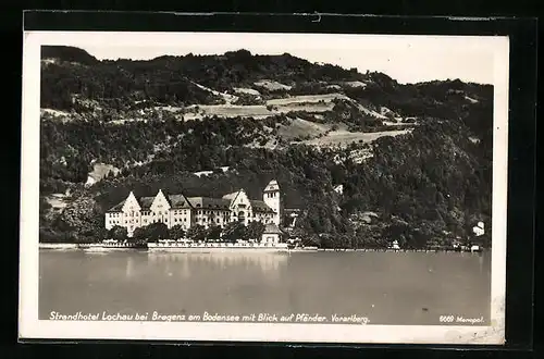
<svg viewBox="0 0 544 359">
<path fill-rule="evenodd" d="M 41 108 L 42 240 L 89 240 L 129 190 L 259 198 L 271 178 L 322 246 L 447 245 L 491 216 L 490 85 L 245 50 L 98 61 L 44 47 Z M 120 172 L 85 186 L 95 163 Z"/>
</svg>

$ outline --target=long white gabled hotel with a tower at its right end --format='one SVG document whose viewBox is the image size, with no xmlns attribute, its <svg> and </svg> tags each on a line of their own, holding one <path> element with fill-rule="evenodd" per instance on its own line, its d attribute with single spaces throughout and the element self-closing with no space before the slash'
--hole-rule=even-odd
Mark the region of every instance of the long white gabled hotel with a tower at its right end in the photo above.
<svg viewBox="0 0 544 359">
<path fill-rule="evenodd" d="M 277 228 L 282 215 L 280 186 L 272 180 L 262 193 L 262 200 L 249 199 L 244 189 L 222 198 L 168 195 L 162 190 L 154 197 L 136 198 L 131 191 L 125 200 L 106 212 L 106 228 L 122 226 L 128 236 L 151 223 L 164 223 L 169 228 L 182 225 L 188 230 L 196 224 L 208 228 L 212 225 L 224 227 L 235 221 L 245 225 L 258 221 L 267 224 L 267 228 Z"/>
</svg>

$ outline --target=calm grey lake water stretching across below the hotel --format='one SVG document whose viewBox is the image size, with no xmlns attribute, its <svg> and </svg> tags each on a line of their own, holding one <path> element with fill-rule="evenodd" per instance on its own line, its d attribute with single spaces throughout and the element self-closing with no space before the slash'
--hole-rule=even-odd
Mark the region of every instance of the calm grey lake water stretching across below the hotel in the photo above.
<svg viewBox="0 0 544 359">
<path fill-rule="evenodd" d="M 39 317 L 361 315 L 370 324 L 490 320 L 491 253 L 159 253 L 40 250 Z M 456 324 L 456 323 L 453 323 Z"/>
</svg>

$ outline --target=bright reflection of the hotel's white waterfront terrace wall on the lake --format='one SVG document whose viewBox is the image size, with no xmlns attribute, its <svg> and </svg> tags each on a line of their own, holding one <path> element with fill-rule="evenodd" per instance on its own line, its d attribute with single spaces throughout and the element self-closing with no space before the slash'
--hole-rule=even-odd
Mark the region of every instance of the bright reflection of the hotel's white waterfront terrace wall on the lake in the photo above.
<svg viewBox="0 0 544 359">
<path fill-rule="evenodd" d="M 148 261 L 150 263 L 163 264 L 165 275 L 169 275 L 172 270 L 178 270 L 178 273 L 183 277 L 189 277 L 193 270 L 205 265 L 209 269 L 220 271 L 234 267 L 244 268 L 246 270 L 258 268 L 262 274 L 274 278 L 277 277 L 280 270 L 286 267 L 288 258 L 289 256 L 287 253 L 262 252 L 148 252 Z M 177 263 L 180 263 L 180 265 Z"/>
</svg>

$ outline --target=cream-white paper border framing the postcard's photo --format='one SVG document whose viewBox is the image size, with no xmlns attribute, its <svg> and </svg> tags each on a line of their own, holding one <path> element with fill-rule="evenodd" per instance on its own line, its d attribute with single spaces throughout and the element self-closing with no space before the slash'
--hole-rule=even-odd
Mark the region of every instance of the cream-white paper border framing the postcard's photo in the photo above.
<svg viewBox="0 0 544 359">
<path fill-rule="evenodd" d="M 446 38 L 463 41 L 467 48 L 489 47 L 494 59 L 494 150 L 492 210 L 492 313 L 490 326 L 450 325 L 344 325 L 344 324 L 264 324 L 264 323 L 173 323 L 173 322 L 63 322 L 38 320 L 38 198 L 39 198 L 39 98 L 40 46 L 66 45 L 66 39 L 85 36 L 94 44 L 145 44 L 152 39 L 170 41 L 175 36 L 247 36 L 251 38 L 298 40 L 305 44 L 337 44 L 354 38 L 374 39 L 375 44 L 396 39 L 408 44 L 428 41 L 434 46 Z M 508 164 L 508 76 L 507 37 L 332 35 L 332 34 L 217 34 L 217 33 L 91 33 L 28 32 L 24 34 L 21 243 L 20 243 L 20 322 L 21 339 L 158 339 L 158 341 L 236 341 L 306 343 L 406 343 L 406 344 L 504 344 L 506 293 L 506 209 Z M 325 38 L 334 40 L 325 41 Z M 308 42 L 309 41 L 309 42 Z M 335 42 L 336 41 L 336 42 Z"/>
</svg>

